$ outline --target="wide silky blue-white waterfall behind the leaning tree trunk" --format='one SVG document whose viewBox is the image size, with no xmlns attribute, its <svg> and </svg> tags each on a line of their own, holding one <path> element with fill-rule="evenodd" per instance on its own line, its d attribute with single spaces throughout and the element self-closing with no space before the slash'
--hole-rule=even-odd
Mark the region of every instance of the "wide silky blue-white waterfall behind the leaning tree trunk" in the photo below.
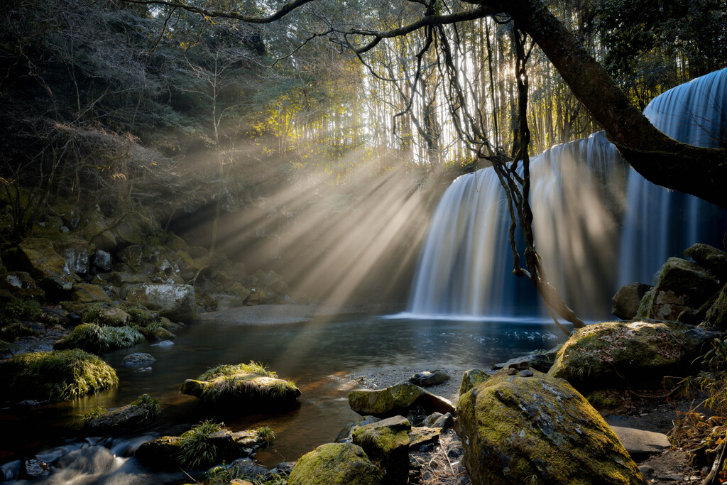
<svg viewBox="0 0 727 485">
<path fill-rule="evenodd" d="M 715 146 L 726 139 L 727 69 L 665 92 L 644 113 L 677 140 Z M 530 201 L 547 275 L 587 318 L 607 318 L 620 284 L 651 281 L 668 256 L 696 241 L 718 244 L 727 228 L 722 209 L 644 180 L 603 132 L 531 159 Z M 505 193 L 492 169 L 454 180 L 419 254 L 409 312 L 539 313 L 533 285 L 512 274 L 509 225 Z"/>
</svg>

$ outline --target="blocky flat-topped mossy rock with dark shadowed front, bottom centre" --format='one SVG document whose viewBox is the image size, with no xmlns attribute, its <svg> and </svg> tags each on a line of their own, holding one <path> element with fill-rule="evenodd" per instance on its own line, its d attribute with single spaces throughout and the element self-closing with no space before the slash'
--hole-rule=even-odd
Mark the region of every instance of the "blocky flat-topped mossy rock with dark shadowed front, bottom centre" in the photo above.
<svg viewBox="0 0 727 485">
<path fill-rule="evenodd" d="M 406 483 L 409 476 L 409 431 L 411 422 L 402 416 L 353 428 L 353 444 L 361 446 L 366 456 L 384 470 L 385 484 Z"/>
</svg>

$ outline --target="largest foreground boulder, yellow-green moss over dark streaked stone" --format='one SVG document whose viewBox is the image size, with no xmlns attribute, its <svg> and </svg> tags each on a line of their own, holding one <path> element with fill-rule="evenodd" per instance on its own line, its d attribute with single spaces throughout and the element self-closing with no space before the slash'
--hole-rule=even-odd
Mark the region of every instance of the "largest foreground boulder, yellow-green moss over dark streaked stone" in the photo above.
<svg viewBox="0 0 727 485">
<path fill-rule="evenodd" d="M 457 404 L 473 484 L 643 484 L 603 418 L 567 382 L 498 372 Z"/>
</svg>

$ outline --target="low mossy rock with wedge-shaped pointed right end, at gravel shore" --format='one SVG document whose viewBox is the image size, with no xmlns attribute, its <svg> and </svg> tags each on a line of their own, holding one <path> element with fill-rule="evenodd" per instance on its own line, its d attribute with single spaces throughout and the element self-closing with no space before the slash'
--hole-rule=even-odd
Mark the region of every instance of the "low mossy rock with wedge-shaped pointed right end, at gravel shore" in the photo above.
<svg viewBox="0 0 727 485">
<path fill-rule="evenodd" d="M 376 417 L 407 415 L 409 411 L 421 409 L 425 414 L 456 411 L 451 402 L 435 396 L 410 382 L 401 382 L 385 389 L 354 389 L 348 393 L 348 405 L 362 416 Z"/>
</svg>

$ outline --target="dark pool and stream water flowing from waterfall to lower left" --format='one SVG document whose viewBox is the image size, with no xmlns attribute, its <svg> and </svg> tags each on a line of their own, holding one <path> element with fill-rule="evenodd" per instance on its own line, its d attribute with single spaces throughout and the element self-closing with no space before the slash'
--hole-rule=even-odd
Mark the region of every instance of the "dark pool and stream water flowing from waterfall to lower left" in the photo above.
<svg viewBox="0 0 727 485">
<path fill-rule="evenodd" d="M 298 324 L 239 325 L 205 322 L 182 329 L 174 345 L 143 343 L 103 354 L 119 374 L 119 385 L 76 401 L 33 409 L 0 410 L 0 480 L 17 478 L 19 459 L 52 462 L 49 483 L 183 483 L 178 474 L 153 474 L 132 458 L 143 441 L 174 435 L 205 419 L 224 421 L 231 430 L 270 425 L 278 441 L 259 454 L 265 465 L 297 460 L 320 444 L 334 441 L 358 417 L 348 407 L 352 374 L 393 369 L 489 369 L 531 350 L 552 348 L 563 336 L 538 319 L 447 320 L 411 316 L 345 315 Z M 156 358 L 150 372 L 121 366 L 132 352 Z M 278 414 L 214 416 L 178 389 L 217 364 L 257 361 L 302 392 L 300 406 Z M 80 436 L 68 430 L 74 418 L 96 406 L 113 409 L 142 393 L 162 403 L 162 414 L 132 434 Z M 3 475 L 4 473 L 4 475 Z"/>
</svg>

